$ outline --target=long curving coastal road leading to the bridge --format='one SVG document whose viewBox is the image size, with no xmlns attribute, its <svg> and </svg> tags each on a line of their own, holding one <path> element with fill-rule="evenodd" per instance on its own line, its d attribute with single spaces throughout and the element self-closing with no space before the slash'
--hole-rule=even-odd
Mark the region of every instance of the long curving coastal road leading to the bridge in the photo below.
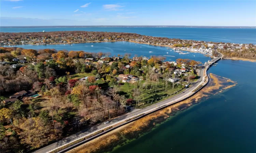
<svg viewBox="0 0 256 153">
<path fill-rule="evenodd" d="M 193 92 L 193 90 L 196 89 L 200 84 L 204 83 L 204 80 L 205 80 L 204 71 L 206 72 L 206 70 L 211 66 L 211 64 L 215 63 L 221 57 L 214 58 L 211 62 L 205 64 L 204 68 L 200 69 L 200 71 L 199 71 L 200 78 L 198 79 L 198 81 L 196 83 L 191 84 L 189 86 L 189 88 L 187 88 L 184 92 L 182 92 L 180 94 L 177 94 L 177 95 L 171 97 L 170 99 L 163 100 L 161 102 L 158 102 L 158 103 L 153 104 L 151 106 L 145 107 L 143 109 L 139 109 L 138 111 L 134 111 L 134 112 L 127 113 L 125 115 L 116 117 L 116 118 L 114 118 L 112 120 L 109 120 L 110 123 L 108 123 L 108 124 L 100 123 L 100 124 L 94 125 L 94 126 L 88 128 L 88 129 L 85 129 L 85 130 L 80 131 L 80 132 L 78 132 L 76 134 L 70 135 L 70 136 L 68 136 L 66 138 L 63 138 L 63 139 L 61 139 L 61 140 L 59 140 L 57 142 L 52 143 L 51 145 L 45 146 L 45 147 L 43 147 L 43 148 L 41 148 L 39 150 L 36 150 L 34 152 L 35 153 L 50 153 L 51 151 L 53 151 L 53 150 L 55 150 L 55 149 L 57 149 L 59 147 L 63 147 L 63 146 L 67 145 L 70 142 L 76 141 L 76 140 L 78 140 L 80 138 L 88 136 L 88 135 L 90 135 L 92 133 L 95 133 L 95 132 L 97 132 L 99 130 L 102 130 L 102 129 L 110 127 L 110 126 L 113 126 L 114 124 L 118 124 L 120 122 L 124 122 L 125 120 L 133 118 L 133 117 L 136 117 L 138 115 L 152 112 L 152 111 L 154 111 L 155 109 L 157 109 L 157 108 L 159 108 L 161 106 L 171 105 L 171 104 L 179 102 L 179 101 L 181 101 L 181 100 L 183 100 L 185 98 L 190 97 L 191 95 L 193 95 L 195 93 L 195 92 Z"/>
</svg>

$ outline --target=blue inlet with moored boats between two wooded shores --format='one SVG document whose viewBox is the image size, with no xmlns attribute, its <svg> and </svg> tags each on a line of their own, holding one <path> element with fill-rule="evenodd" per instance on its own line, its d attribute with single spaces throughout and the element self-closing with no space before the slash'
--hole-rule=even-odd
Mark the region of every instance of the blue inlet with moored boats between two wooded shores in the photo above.
<svg viewBox="0 0 256 153">
<path fill-rule="evenodd" d="M 92 47 L 93 46 L 93 47 Z M 110 52 L 111 56 L 114 55 L 124 55 L 125 53 L 130 53 L 131 56 L 163 56 L 166 57 L 166 61 L 175 61 L 177 58 L 189 58 L 191 60 L 200 61 L 202 63 L 210 60 L 210 57 L 206 57 L 200 53 L 189 53 L 189 54 L 179 54 L 174 52 L 172 49 L 167 49 L 167 47 L 129 43 L 129 42 L 102 42 L 102 43 L 77 43 L 77 44 L 60 44 L 60 45 L 6 45 L 4 47 L 21 47 L 25 49 L 46 49 L 54 48 L 56 50 L 66 49 L 68 51 L 83 50 L 86 52 Z M 152 53 L 150 53 L 152 51 Z M 167 53 L 168 52 L 168 53 Z M 184 53 L 186 51 L 183 51 Z M 195 56 L 194 56 L 195 55 Z M 175 56 L 175 57 L 171 57 Z"/>
</svg>

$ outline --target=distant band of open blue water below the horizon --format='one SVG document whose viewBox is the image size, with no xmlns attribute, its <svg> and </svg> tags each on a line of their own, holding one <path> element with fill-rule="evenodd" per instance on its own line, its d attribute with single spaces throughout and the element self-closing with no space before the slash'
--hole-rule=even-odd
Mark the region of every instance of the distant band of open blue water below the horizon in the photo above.
<svg viewBox="0 0 256 153">
<path fill-rule="evenodd" d="M 1 32 L 102 31 L 192 39 L 213 42 L 256 44 L 256 29 L 238 28 L 0 28 Z"/>
</svg>

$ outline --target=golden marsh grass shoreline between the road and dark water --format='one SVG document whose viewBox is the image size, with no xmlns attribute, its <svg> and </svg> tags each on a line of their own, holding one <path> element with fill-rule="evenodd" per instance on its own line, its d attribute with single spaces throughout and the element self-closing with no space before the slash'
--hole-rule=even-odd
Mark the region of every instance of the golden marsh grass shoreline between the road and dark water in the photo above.
<svg viewBox="0 0 256 153">
<path fill-rule="evenodd" d="M 168 119 L 171 119 L 170 117 L 174 116 L 177 112 L 181 112 L 199 103 L 203 98 L 208 99 L 209 96 L 216 95 L 237 84 L 230 79 L 219 77 L 212 73 L 210 73 L 210 77 L 212 79 L 210 84 L 194 96 L 117 128 L 110 133 L 104 134 L 97 139 L 68 151 L 68 153 L 111 152 L 152 131 L 152 129 L 156 128 L 157 124 L 162 124 Z M 229 84 L 225 85 L 228 82 Z"/>
</svg>

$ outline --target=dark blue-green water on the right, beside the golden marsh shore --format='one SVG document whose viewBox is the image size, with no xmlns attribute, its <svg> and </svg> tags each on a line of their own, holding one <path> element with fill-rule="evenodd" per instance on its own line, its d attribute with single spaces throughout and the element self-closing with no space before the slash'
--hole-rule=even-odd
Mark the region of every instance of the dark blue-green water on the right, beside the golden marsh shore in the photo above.
<svg viewBox="0 0 256 153">
<path fill-rule="evenodd" d="M 113 153 L 255 153 L 256 63 L 218 63 L 209 72 L 237 81 L 237 86 L 175 115 Z"/>
</svg>

